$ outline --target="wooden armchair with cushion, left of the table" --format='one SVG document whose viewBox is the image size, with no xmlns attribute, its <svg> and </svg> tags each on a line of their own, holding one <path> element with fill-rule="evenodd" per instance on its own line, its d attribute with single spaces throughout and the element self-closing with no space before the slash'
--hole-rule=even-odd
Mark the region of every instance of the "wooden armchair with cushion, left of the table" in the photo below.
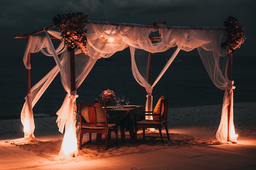
<svg viewBox="0 0 256 170">
<path fill-rule="evenodd" d="M 103 109 L 104 108 L 104 109 Z M 108 140 L 111 132 L 116 134 L 116 145 L 118 144 L 117 136 L 117 116 L 108 117 L 105 103 L 79 103 L 79 128 L 80 139 L 79 149 L 82 148 L 82 139 L 85 133 L 89 133 L 89 143 L 92 143 L 92 133 L 105 135 L 105 150 L 108 149 Z M 108 120 L 115 118 L 115 124 L 108 124 Z"/>
</svg>

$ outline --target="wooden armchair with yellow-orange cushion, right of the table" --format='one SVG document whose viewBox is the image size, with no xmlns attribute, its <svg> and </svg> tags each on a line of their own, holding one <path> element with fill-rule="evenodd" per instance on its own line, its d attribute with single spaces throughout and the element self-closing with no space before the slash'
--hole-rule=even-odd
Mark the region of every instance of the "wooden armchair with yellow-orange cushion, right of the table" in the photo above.
<svg viewBox="0 0 256 170">
<path fill-rule="evenodd" d="M 161 116 L 163 109 L 164 109 L 164 113 Z M 153 111 L 145 111 L 145 113 L 142 114 L 144 119 L 142 119 L 140 121 L 136 120 L 136 116 L 141 116 L 141 115 L 134 115 L 135 143 L 137 143 L 137 131 L 139 128 L 143 128 L 143 140 L 145 140 L 145 137 L 150 137 L 152 139 L 157 138 L 157 137 L 152 137 L 152 136 L 145 136 L 145 128 L 158 128 L 159 134 L 160 134 L 160 137 L 158 137 L 158 138 L 161 138 L 162 143 L 164 143 L 163 138 L 168 138 L 168 140 L 170 141 L 171 139 L 170 139 L 168 127 L 167 127 L 167 121 L 168 121 L 167 111 L 168 111 L 168 99 L 162 99 L 159 114 L 153 114 Z M 147 119 L 145 119 L 146 116 L 153 116 L 153 117 L 157 116 L 157 117 L 159 117 L 159 121 L 147 120 Z M 162 127 L 165 127 L 167 137 L 162 136 Z"/>
</svg>

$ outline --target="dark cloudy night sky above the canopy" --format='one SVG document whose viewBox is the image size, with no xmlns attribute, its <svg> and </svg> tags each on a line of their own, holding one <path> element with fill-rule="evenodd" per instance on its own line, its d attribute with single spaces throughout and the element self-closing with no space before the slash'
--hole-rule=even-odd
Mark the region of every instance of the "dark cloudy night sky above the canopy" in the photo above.
<svg viewBox="0 0 256 170">
<path fill-rule="evenodd" d="M 229 15 L 247 39 L 234 55 L 255 55 L 255 0 L 0 0 L 1 56 L 23 55 L 25 39 L 14 39 L 53 24 L 57 14 L 83 12 L 88 20 L 166 26 L 223 27 Z"/>
</svg>

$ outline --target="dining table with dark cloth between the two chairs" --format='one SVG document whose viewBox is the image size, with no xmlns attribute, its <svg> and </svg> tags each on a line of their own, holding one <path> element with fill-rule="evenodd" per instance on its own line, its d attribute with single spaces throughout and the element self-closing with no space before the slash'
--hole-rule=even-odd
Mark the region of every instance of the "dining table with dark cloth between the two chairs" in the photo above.
<svg viewBox="0 0 256 170">
<path fill-rule="evenodd" d="M 117 117 L 117 123 L 120 127 L 121 133 L 121 142 L 124 143 L 126 141 L 125 132 L 129 130 L 130 139 L 134 140 L 135 138 L 135 131 L 134 131 L 134 115 L 140 115 L 145 110 L 144 106 L 137 106 L 137 105 L 124 105 L 124 106 L 107 106 L 107 114 Z M 142 118 L 142 117 L 141 117 Z M 137 117 L 137 120 L 140 120 Z M 113 120 L 109 120 L 108 123 L 112 124 L 115 123 Z M 97 141 L 101 139 L 101 134 L 97 134 Z"/>
</svg>

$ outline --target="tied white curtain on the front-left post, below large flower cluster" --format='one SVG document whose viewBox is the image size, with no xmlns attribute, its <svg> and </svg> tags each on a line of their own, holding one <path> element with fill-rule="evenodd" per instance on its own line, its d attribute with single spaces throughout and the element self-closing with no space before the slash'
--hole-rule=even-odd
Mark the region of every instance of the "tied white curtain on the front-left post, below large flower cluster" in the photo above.
<svg viewBox="0 0 256 170">
<path fill-rule="evenodd" d="M 49 31 L 49 33 L 52 33 Z M 53 32 L 52 35 L 55 35 L 56 32 Z M 47 34 L 47 33 L 46 33 Z M 48 42 L 52 44 L 49 36 Z M 52 45 L 53 49 L 53 45 Z M 81 54 L 80 50 L 76 50 L 75 56 L 75 68 L 76 68 L 76 89 L 79 88 L 85 77 L 91 71 L 92 67 L 97 61 L 88 55 Z M 76 137 L 76 98 L 78 95 L 76 91 L 71 91 L 71 79 L 70 79 L 70 52 L 65 50 L 61 54 L 61 58 L 63 58 L 63 64 L 58 64 L 60 61 L 56 53 L 54 54 L 56 64 L 59 66 L 59 69 L 62 70 L 61 73 L 61 83 L 63 88 L 67 92 L 67 95 L 63 101 L 61 108 L 57 111 L 56 115 L 58 115 L 56 123 L 58 124 L 59 131 L 63 133 L 65 128 L 65 134 L 63 137 L 61 150 L 59 152 L 58 157 L 70 157 L 72 154 L 76 155 L 78 153 L 77 147 L 77 137 Z M 68 149 L 67 149 L 68 148 Z"/>
</svg>

